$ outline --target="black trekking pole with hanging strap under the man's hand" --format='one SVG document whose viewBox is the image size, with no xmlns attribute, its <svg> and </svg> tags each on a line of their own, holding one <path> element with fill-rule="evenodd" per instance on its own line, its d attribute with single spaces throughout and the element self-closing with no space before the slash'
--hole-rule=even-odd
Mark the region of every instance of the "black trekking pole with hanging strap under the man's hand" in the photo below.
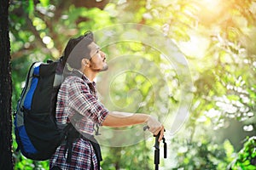
<svg viewBox="0 0 256 170">
<path fill-rule="evenodd" d="M 148 126 L 143 127 L 143 130 L 147 130 L 149 129 Z M 165 130 L 166 131 L 166 130 Z M 154 135 L 155 139 L 154 139 L 154 169 L 155 170 L 159 170 L 159 164 L 160 164 L 160 142 L 159 142 L 159 138 L 160 138 L 160 133 L 158 133 L 157 135 Z M 166 144 L 166 139 L 163 137 L 162 138 L 163 143 L 164 143 L 164 158 L 167 158 L 167 144 Z"/>
</svg>

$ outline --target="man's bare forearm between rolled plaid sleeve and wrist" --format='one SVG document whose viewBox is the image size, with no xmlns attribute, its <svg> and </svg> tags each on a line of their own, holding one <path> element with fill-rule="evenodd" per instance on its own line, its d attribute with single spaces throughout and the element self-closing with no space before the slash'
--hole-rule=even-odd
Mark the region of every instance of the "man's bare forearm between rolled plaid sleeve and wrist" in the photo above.
<svg viewBox="0 0 256 170">
<path fill-rule="evenodd" d="M 102 123 L 108 127 L 127 127 L 148 122 L 148 115 L 111 111 Z"/>
</svg>

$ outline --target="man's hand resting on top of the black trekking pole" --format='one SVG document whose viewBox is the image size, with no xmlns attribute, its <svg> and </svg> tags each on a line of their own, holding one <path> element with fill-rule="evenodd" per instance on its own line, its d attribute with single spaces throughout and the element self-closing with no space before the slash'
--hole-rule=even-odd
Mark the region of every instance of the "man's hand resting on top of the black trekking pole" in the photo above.
<svg viewBox="0 0 256 170">
<path fill-rule="evenodd" d="M 154 135 L 157 135 L 158 133 L 160 133 L 160 138 L 159 138 L 159 141 L 160 141 L 164 136 L 165 127 L 160 122 L 158 122 L 154 118 L 154 116 L 148 117 L 147 125 L 149 127 L 148 130 Z"/>
</svg>

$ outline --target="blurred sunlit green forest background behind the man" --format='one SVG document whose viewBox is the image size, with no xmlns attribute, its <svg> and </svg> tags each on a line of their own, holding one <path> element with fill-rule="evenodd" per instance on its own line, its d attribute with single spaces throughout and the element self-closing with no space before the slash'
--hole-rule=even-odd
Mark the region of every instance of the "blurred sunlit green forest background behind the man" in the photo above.
<svg viewBox="0 0 256 170">
<path fill-rule="evenodd" d="M 109 33 L 104 29 L 110 26 L 125 34 L 127 23 L 136 36 L 149 26 L 172 40 L 187 62 L 189 80 L 179 77 L 172 65 L 176 61 L 166 59 L 164 52 L 139 39 L 118 41 L 120 35 L 102 48 L 112 66 L 97 80 L 102 103 L 110 110 L 148 111 L 164 122 L 168 158 L 161 156 L 161 169 L 255 169 L 254 0 L 12 0 L 12 112 L 32 62 L 58 59 L 68 39 L 84 31 Z M 119 70 L 124 65 L 130 71 Z M 108 88 L 101 88 L 104 79 L 113 77 Z M 182 95 L 191 100 L 182 101 Z M 183 105 L 189 105 L 188 116 L 173 133 L 171 124 Z M 14 134 L 13 139 L 15 150 Z M 122 147 L 103 144 L 102 168 L 154 169 L 153 146 L 153 137 Z M 49 168 L 48 161 L 31 161 L 19 152 L 14 151 L 13 159 L 15 169 Z"/>
</svg>

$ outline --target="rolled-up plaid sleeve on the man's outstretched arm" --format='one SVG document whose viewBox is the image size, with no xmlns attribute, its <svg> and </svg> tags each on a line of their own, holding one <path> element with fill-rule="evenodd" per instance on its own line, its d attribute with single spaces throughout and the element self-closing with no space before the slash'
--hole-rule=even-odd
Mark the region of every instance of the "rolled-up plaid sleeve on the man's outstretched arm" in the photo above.
<svg viewBox="0 0 256 170">
<path fill-rule="evenodd" d="M 108 109 L 90 93 L 89 86 L 82 79 L 76 78 L 69 88 L 69 106 L 80 115 L 90 118 L 102 126 L 108 116 Z"/>
</svg>

